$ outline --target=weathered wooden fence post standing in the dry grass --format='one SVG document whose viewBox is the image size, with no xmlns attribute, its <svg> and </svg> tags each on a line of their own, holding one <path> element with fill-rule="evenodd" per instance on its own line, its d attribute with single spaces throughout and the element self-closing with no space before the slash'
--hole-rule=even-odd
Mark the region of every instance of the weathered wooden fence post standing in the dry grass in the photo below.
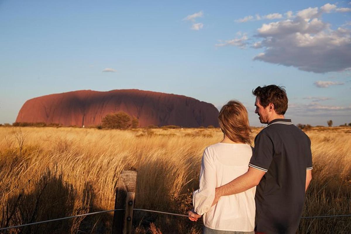
<svg viewBox="0 0 351 234">
<path fill-rule="evenodd" d="M 116 188 L 112 234 L 132 234 L 133 208 L 135 199 L 136 171 L 122 171 Z"/>
</svg>

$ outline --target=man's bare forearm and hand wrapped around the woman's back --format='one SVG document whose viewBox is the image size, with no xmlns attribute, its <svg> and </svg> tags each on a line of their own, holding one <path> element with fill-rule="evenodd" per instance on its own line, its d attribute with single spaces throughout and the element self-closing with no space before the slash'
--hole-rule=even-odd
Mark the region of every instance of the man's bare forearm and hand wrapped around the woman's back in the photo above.
<svg viewBox="0 0 351 234">
<path fill-rule="evenodd" d="M 245 174 L 240 175 L 226 185 L 216 188 L 216 194 L 212 206 L 218 202 L 221 196 L 241 193 L 258 185 L 265 173 L 266 172 L 260 171 L 256 168 L 249 167 L 249 171 Z"/>
</svg>

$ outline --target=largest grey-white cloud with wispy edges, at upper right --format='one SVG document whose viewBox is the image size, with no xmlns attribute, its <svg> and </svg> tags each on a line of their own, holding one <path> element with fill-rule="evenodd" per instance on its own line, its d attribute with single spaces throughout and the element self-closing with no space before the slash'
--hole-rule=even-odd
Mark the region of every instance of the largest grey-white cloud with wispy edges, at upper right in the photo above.
<svg viewBox="0 0 351 234">
<path fill-rule="evenodd" d="M 351 30 L 337 29 L 322 20 L 323 14 L 347 12 L 351 8 L 339 8 L 335 4 L 309 7 L 293 13 L 272 13 L 264 16 L 246 16 L 237 22 L 262 19 L 280 19 L 265 23 L 252 38 L 238 38 L 216 46 L 250 46 L 263 49 L 254 60 L 293 66 L 314 73 L 340 72 L 351 69 Z M 249 44 L 249 41 L 251 42 Z"/>
</svg>

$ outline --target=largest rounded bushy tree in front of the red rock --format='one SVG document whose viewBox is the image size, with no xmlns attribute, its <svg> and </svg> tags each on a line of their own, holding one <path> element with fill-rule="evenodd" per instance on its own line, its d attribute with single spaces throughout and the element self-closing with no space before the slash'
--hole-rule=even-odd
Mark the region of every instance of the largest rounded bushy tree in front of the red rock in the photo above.
<svg viewBox="0 0 351 234">
<path fill-rule="evenodd" d="M 131 126 L 130 116 L 123 111 L 107 114 L 101 122 L 102 128 L 127 129 Z"/>
</svg>

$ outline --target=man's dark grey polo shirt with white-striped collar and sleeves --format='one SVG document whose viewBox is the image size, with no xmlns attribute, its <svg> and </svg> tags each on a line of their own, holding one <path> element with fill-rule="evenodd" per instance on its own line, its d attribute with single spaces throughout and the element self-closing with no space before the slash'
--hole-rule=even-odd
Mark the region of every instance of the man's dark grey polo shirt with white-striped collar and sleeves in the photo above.
<svg viewBox="0 0 351 234">
<path fill-rule="evenodd" d="M 256 228 L 296 233 L 305 201 L 311 141 L 290 119 L 275 119 L 257 134 L 250 167 L 266 172 L 256 189 Z"/>
</svg>

